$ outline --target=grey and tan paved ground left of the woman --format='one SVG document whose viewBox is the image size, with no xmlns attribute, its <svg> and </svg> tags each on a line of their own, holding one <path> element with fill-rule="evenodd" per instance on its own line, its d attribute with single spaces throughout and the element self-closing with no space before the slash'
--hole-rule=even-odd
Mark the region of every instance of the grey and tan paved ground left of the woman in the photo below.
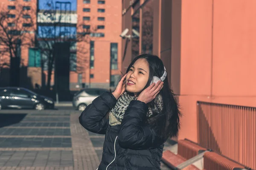
<svg viewBox="0 0 256 170">
<path fill-rule="evenodd" d="M 80 124 L 79 111 L 0 111 L 0 170 L 96 170 L 105 135 Z M 169 170 L 164 164 L 162 170 Z"/>
</svg>

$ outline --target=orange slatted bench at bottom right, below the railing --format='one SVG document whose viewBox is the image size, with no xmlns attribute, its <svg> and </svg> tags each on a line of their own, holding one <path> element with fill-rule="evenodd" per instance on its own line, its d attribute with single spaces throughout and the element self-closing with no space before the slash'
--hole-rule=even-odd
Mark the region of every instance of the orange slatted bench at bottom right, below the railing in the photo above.
<svg viewBox="0 0 256 170">
<path fill-rule="evenodd" d="M 241 170 L 245 167 L 227 159 L 218 153 L 207 152 L 204 154 L 204 170 Z"/>
</svg>

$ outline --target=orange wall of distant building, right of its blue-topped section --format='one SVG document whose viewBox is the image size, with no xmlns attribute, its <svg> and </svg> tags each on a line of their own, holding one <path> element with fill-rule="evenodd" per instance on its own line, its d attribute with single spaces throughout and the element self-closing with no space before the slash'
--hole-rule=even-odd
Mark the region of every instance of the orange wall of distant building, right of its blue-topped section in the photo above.
<svg viewBox="0 0 256 170">
<path fill-rule="evenodd" d="M 83 12 L 83 8 L 90 8 L 90 12 Z M 105 13 L 99 13 L 98 8 L 104 8 Z M 112 70 L 112 74 L 120 74 L 122 65 L 121 53 L 121 37 L 122 32 L 122 2 L 115 0 L 106 0 L 105 4 L 98 4 L 98 1 L 91 1 L 90 4 L 84 4 L 83 0 L 77 1 L 78 26 L 83 22 L 90 25 L 91 28 L 96 28 L 97 25 L 104 25 L 105 29 L 98 29 L 96 32 L 105 33 L 105 37 L 90 37 L 94 41 L 94 68 L 89 70 L 90 62 L 90 40 L 88 42 L 79 42 L 78 46 L 85 47 L 84 54 L 79 54 L 80 57 L 85 57 L 87 63 L 84 63 L 83 82 L 91 87 L 108 87 L 110 84 L 110 49 L 111 42 L 118 43 L 118 70 Z M 90 17 L 90 21 L 82 21 L 83 17 Z M 105 21 L 98 21 L 98 17 L 105 17 Z M 93 31 L 93 30 L 92 30 Z M 90 74 L 94 74 L 94 78 L 90 78 Z M 78 77 L 77 74 L 73 75 Z M 71 81 L 71 79 L 70 79 Z M 72 79 L 72 82 L 75 82 Z"/>
</svg>

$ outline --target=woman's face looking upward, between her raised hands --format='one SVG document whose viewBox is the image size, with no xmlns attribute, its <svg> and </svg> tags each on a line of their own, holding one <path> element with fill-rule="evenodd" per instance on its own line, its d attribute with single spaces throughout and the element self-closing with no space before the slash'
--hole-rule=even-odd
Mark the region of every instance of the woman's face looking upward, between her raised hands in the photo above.
<svg viewBox="0 0 256 170">
<path fill-rule="evenodd" d="M 126 91 L 137 95 L 148 82 L 149 67 L 145 59 L 137 59 L 126 76 Z"/>
</svg>

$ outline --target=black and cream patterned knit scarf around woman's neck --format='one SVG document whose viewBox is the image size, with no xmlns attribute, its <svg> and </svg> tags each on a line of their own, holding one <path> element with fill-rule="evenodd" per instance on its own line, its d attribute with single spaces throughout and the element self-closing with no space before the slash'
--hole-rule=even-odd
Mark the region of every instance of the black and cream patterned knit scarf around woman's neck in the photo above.
<svg viewBox="0 0 256 170">
<path fill-rule="evenodd" d="M 120 125 L 122 122 L 122 119 L 124 117 L 125 111 L 129 105 L 129 103 L 135 100 L 135 97 L 125 92 L 122 94 L 122 96 L 119 97 L 119 99 L 116 102 L 116 105 L 114 108 L 111 109 L 109 113 L 109 124 L 111 126 L 114 125 Z M 154 106 L 154 112 L 160 113 L 163 110 L 163 98 L 160 95 L 157 95 L 155 98 L 155 106 Z M 148 117 L 153 116 L 153 111 L 151 108 L 148 108 Z"/>
</svg>

